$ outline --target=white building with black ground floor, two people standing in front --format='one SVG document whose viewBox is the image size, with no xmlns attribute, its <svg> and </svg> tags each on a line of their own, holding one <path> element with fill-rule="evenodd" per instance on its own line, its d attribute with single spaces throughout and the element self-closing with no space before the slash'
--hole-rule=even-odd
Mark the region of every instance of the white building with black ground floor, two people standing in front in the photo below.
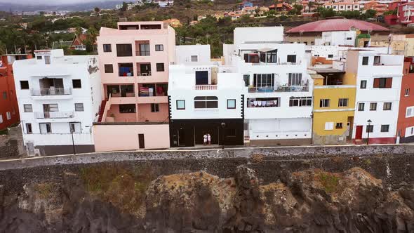
<svg viewBox="0 0 414 233">
<path fill-rule="evenodd" d="M 193 46 L 193 52 L 178 48 L 177 60 L 182 61 L 180 57 L 192 56 L 206 47 L 208 53 L 200 53 L 198 57 L 203 62 L 184 60 L 170 65 L 171 147 L 202 145 L 206 133 L 211 135 L 213 145 L 243 145 L 242 76 L 234 73 L 232 67 L 207 62 L 209 46 Z"/>
</svg>

